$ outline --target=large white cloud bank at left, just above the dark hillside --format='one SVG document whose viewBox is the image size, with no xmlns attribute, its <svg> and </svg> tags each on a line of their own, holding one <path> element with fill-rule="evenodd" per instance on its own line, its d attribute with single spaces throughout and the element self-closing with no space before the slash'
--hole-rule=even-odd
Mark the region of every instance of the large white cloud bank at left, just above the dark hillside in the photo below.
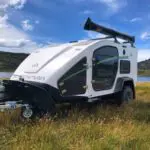
<svg viewBox="0 0 150 150">
<path fill-rule="evenodd" d="M 30 37 L 7 22 L 7 15 L 0 17 L 0 51 L 31 52 L 38 48 Z"/>
</svg>

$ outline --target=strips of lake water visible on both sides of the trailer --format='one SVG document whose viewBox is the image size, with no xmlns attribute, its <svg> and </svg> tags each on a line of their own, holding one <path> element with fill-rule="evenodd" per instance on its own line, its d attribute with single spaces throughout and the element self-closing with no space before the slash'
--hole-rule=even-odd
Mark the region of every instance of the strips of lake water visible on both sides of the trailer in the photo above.
<svg viewBox="0 0 150 150">
<path fill-rule="evenodd" d="M 0 78 L 10 78 L 12 72 L 0 72 Z M 150 82 L 150 77 L 138 76 L 138 82 Z"/>
</svg>

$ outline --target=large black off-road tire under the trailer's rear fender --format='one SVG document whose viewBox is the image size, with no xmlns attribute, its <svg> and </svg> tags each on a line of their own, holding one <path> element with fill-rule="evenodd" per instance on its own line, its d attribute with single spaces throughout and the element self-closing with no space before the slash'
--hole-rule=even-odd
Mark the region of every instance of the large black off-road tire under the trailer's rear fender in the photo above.
<svg viewBox="0 0 150 150">
<path fill-rule="evenodd" d="M 133 88 L 129 85 L 123 87 L 123 90 L 117 96 L 117 104 L 129 104 L 134 100 Z"/>
</svg>

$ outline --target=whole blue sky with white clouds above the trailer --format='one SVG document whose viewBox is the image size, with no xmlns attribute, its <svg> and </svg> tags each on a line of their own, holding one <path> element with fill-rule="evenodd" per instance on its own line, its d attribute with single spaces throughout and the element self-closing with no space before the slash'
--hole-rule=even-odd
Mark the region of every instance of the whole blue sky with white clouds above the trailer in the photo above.
<svg viewBox="0 0 150 150">
<path fill-rule="evenodd" d="M 134 35 L 138 61 L 150 58 L 149 0 L 0 0 L 0 51 L 99 37 L 83 30 L 88 17 Z"/>
</svg>

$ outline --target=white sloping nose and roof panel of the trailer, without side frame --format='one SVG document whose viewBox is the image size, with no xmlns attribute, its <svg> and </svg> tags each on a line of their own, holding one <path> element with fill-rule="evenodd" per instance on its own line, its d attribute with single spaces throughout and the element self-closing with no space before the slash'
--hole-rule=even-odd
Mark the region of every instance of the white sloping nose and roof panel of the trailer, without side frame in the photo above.
<svg viewBox="0 0 150 150">
<path fill-rule="evenodd" d="M 20 64 L 11 80 L 18 81 L 22 77 L 26 81 L 47 83 L 56 87 L 56 83 L 52 82 L 56 82 L 57 77 L 78 60 L 76 57 L 95 42 L 67 43 L 36 50 Z"/>
</svg>

